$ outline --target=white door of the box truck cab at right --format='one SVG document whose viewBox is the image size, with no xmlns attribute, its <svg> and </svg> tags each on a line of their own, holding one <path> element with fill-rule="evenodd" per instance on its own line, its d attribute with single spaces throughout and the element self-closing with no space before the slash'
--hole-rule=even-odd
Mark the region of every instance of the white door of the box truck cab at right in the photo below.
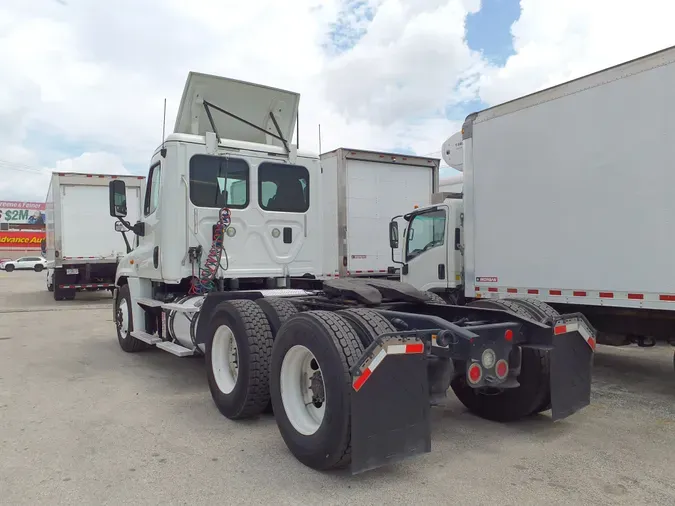
<svg viewBox="0 0 675 506">
<path fill-rule="evenodd" d="M 419 290 L 448 288 L 449 208 L 439 205 L 412 215 L 405 233 L 401 280 Z"/>
</svg>

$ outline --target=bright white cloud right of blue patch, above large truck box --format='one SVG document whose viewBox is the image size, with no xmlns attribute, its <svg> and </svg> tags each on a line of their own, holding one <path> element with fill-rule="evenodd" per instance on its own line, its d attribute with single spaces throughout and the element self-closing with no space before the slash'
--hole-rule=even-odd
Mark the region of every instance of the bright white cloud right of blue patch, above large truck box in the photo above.
<svg viewBox="0 0 675 506">
<path fill-rule="evenodd" d="M 480 97 L 498 104 L 675 45 L 675 3 L 521 0 L 516 54 L 488 69 Z"/>
</svg>

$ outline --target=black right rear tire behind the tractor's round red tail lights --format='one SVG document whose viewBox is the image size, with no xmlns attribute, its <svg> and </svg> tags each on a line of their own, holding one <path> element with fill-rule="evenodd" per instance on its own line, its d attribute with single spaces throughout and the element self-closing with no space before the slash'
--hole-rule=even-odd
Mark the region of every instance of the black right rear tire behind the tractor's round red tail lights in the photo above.
<svg viewBox="0 0 675 506">
<path fill-rule="evenodd" d="M 522 305 L 508 300 L 476 300 L 468 306 L 501 309 L 531 318 Z M 518 388 L 498 390 L 494 395 L 470 387 L 464 375 L 453 379 L 450 386 L 460 402 L 474 414 L 496 422 L 511 422 L 537 412 L 547 402 L 550 387 L 546 355 L 523 348 L 518 382 Z"/>
</svg>

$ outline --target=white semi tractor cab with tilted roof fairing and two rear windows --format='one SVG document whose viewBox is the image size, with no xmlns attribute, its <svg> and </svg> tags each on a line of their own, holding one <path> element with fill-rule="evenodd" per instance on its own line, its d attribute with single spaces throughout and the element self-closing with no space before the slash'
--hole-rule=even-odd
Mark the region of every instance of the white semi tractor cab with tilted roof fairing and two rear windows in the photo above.
<svg viewBox="0 0 675 506">
<path fill-rule="evenodd" d="M 220 290 L 281 288 L 322 272 L 319 156 L 290 143 L 299 94 L 191 72 L 173 133 L 150 161 L 135 247 L 115 284 L 169 301 Z M 111 185 L 124 219 L 125 188 Z M 219 237 L 220 233 L 220 239 Z"/>
</svg>

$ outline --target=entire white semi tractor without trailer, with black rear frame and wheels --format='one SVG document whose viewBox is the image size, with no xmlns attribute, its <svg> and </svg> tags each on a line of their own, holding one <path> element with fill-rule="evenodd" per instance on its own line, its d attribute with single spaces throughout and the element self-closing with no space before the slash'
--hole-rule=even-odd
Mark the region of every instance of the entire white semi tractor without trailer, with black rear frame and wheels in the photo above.
<svg viewBox="0 0 675 506">
<path fill-rule="evenodd" d="M 322 216 L 338 204 L 318 154 L 291 143 L 299 98 L 190 73 L 136 223 L 124 181 L 110 183 L 110 214 L 137 236 L 115 280 L 120 347 L 205 355 L 220 412 L 273 411 L 292 454 L 317 470 L 429 452 L 429 410 L 451 385 L 494 420 L 588 405 L 594 330 L 583 316 L 542 322 L 323 275 L 340 236 Z"/>
</svg>

